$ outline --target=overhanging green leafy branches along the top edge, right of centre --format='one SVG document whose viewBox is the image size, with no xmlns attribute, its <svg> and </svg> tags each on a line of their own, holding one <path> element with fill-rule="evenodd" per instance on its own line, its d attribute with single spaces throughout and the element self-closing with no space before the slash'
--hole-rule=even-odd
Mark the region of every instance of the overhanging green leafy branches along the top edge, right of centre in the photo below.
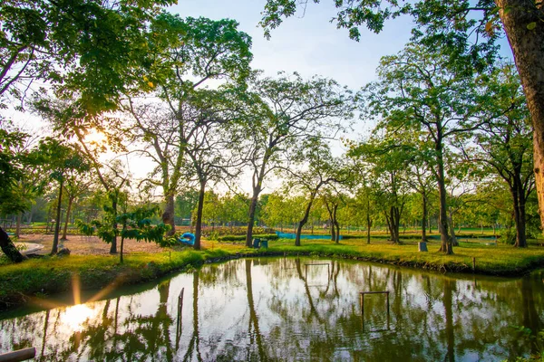
<svg viewBox="0 0 544 362">
<path fill-rule="evenodd" d="M 319 3 L 318 0 L 313 2 Z M 279 26 L 283 17 L 295 15 L 297 8 L 307 4 L 308 1 L 267 0 L 260 22 L 265 35 L 269 37 L 271 29 Z M 347 29 L 349 37 L 356 41 L 361 38 L 360 26 L 379 33 L 387 19 L 412 15 L 413 40 L 427 46 L 447 44 L 450 66 L 467 73 L 481 71 L 493 62 L 497 51 L 494 42 L 502 35 L 502 27 L 496 25 L 500 9 L 491 0 L 481 0 L 476 6 L 469 0 L 335 0 L 334 4 L 338 10 L 332 22 Z M 471 9 L 479 11 L 471 12 Z M 473 41 L 474 37 L 477 42 Z"/>
</svg>

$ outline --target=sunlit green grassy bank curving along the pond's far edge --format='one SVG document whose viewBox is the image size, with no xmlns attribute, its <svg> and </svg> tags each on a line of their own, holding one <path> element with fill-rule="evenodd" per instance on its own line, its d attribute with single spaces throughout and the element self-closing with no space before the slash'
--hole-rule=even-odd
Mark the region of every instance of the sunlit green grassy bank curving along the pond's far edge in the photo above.
<svg viewBox="0 0 544 362">
<path fill-rule="evenodd" d="M 192 250 L 159 253 L 131 253 L 123 264 L 118 256 L 44 257 L 20 264 L 0 265 L 0 310 L 14 308 L 36 298 L 43 298 L 72 288 L 77 281 L 83 290 L 105 291 L 121 284 L 151 281 L 172 271 L 198 268 L 205 262 L 254 255 L 321 255 L 361 261 L 385 262 L 435 271 L 476 272 L 516 276 L 544 267 L 544 247 L 515 249 L 510 245 L 461 243 L 455 254 L 437 252 L 439 242 L 428 243 L 429 252 L 418 252 L 416 242 L 393 245 L 374 239 L 348 239 L 340 244 L 326 240 L 270 241 L 268 249 L 246 249 L 240 243 L 212 243 L 201 252 Z M 473 261 L 475 269 L 473 270 Z"/>
</svg>

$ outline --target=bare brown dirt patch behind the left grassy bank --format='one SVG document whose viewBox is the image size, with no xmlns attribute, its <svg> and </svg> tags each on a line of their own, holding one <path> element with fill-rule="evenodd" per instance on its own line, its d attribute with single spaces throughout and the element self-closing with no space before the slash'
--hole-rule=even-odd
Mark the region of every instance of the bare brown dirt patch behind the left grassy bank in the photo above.
<svg viewBox="0 0 544 362">
<path fill-rule="evenodd" d="M 44 245 L 39 254 L 48 254 L 53 247 L 53 235 L 45 234 L 23 234 L 19 238 L 20 243 L 37 243 Z M 204 243 L 205 244 L 205 243 Z M 59 243 L 60 246 L 68 248 L 73 255 L 109 255 L 110 244 L 104 243 L 96 236 L 68 235 L 68 240 Z M 121 246 L 121 238 L 117 241 L 117 251 Z M 123 253 L 131 252 L 161 252 L 162 248 L 156 243 L 138 243 L 135 240 L 125 240 Z"/>
</svg>

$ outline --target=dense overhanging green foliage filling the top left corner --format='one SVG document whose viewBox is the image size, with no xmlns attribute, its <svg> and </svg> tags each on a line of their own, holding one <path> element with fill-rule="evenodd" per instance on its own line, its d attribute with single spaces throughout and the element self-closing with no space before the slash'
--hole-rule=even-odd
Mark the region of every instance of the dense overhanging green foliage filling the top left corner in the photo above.
<svg viewBox="0 0 544 362">
<path fill-rule="evenodd" d="M 169 0 L 6 0 L 0 5 L 0 104 L 23 100 L 34 80 L 79 95 L 91 113 L 112 110 L 149 62 L 148 21 Z"/>
</svg>

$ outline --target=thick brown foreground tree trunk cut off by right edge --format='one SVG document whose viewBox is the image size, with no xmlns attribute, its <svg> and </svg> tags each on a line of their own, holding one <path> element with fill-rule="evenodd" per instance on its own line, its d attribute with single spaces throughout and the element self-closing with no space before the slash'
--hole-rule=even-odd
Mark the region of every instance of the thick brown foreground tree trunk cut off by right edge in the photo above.
<svg viewBox="0 0 544 362">
<path fill-rule="evenodd" d="M 535 185 L 540 223 L 544 226 L 544 23 L 542 3 L 495 0 L 520 73 L 533 125 Z M 508 9 L 508 11 L 504 11 Z M 532 28 L 534 24 L 534 28 Z M 530 29 L 532 28 L 532 29 Z"/>
</svg>

